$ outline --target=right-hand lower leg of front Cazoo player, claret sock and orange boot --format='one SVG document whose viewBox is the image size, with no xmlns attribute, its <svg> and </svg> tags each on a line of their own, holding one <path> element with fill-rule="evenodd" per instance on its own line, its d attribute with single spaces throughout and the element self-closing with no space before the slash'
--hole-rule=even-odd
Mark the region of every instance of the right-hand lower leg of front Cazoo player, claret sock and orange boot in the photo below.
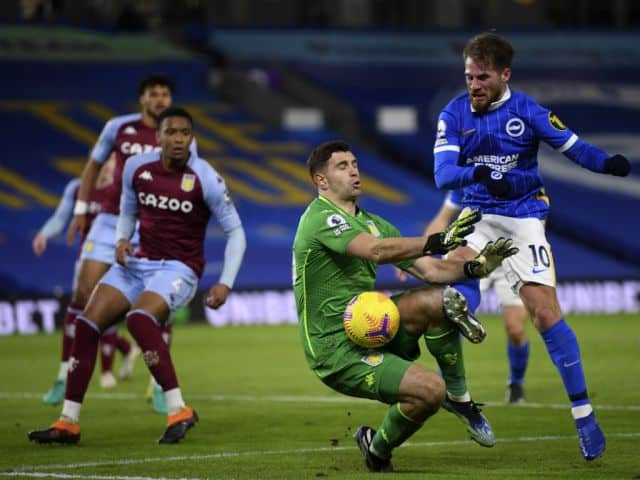
<svg viewBox="0 0 640 480">
<path fill-rule="evenodd" d="M 143 351 L 144 361 L 164 391 L 167 402 L 167 428 L 158 443 L 177 443 L 198 421 L 198 415 L 182 399 L 178 379 L 169 354 L 169 347 L 162 338 L 158 322 L 145 310 L 136 309 L 127 314 L 127 327 Z"/>
</svg>

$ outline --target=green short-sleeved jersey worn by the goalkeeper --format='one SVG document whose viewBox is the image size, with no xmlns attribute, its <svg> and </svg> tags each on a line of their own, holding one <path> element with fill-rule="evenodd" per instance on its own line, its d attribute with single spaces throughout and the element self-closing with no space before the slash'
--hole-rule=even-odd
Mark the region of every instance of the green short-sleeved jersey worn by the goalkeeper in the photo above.
<svg viewBox="0 0 640 480">
<path fill-rule="evenodd" d="M 347 245 L 360 233 L 399 237 L 383 218 L 357 209 L 349 215 L 323 196 L 309 204 L 300 217 L 293 241 L 293 291 L 305 355 L 316 369 L 347 340 L 342 314 L 349 300 L 373 290 L 377 264 L 348 256 Z M 414 260 L 398 262 L 400 268 Z M 321 372 L 317 372 L 323 376 Z"/>
</svg>

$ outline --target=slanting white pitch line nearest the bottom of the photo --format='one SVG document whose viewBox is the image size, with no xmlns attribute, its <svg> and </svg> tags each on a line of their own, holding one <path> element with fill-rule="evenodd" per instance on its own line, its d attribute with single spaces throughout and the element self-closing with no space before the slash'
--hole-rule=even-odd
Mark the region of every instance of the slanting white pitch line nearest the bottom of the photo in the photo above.
<svg viewBox="0 0 640 480">
<path fill-rule="evenodd" d="M 627 432 L 627 433 L 607 433 L 607 438 L 636 438 L 640 437 L 640 432 Z M 529 442 L 552 442 L 561 440 L 577 440 L 576 435 L 545 435 L 540 437 L 513 437 L 513 438 L 497 438 L 496 443 L 529 443 Z M 438 442 L 407 442 L 402 444 L 399 448 L 411 448 L 411 447 L 442 447 L 442 446 L 458 446 L 469 445 L 471 440 L 446 440 Z M 217 460 L 220 458 L 230 457 L 259 457 L 266 455 L 294 455 L 302 453 L 320 453 L 320 452 L 336 452 L 342 450 L 355 450 L 356 446 L 344 446 L 344 447 L 314 447 L 314 448 L 298 448 L 287 450 L 257 450 L 248 452 L 220 452 L 210 453 L 204 455 L 180 455 L 173 457 L 147 457 L 147 458 L 126 458 L 119 460 L 105 460 L 100 462 L 83 462 L 83 463 L 59 463 L 55 465 L 23 465 L 15 467 L 12 472 L 0 473 L 0 475 L 8 475 L 9 473 L 27 473 L 31 470 L 57 470 L 86 468 L 86 467 L 111 467 L 122 465 L 139 465 L 144 463 L 158 463 L 158 462 L 180 462 L 180 461 L 198 461 L 198 460 Z"/>
</svg>

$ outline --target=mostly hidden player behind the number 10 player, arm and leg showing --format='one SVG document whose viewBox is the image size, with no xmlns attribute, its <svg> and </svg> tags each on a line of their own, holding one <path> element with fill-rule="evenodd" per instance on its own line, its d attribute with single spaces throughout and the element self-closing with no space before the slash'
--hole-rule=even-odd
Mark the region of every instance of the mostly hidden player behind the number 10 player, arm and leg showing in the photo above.
<svg viewBox="0 0 640 480">
<path fill-rule="evenodd" d="M 424 235 L 440 232 L 449 225 L 462 210 L 462 191 L 447 193 L 442 207 L 427 226 Z M 508 403 L 524 402 L 524 376 L 529 363 L 529 339 L 525 331 L 528 317 L 520 297 L 514 293 L 505 276 L 502 266 L 495 269 L 487 278 L 480 280 L 480 291 L 493 287 L 500 301 L 504 328 L 507 333 L 507 359 L 509 361 L 509 379 L 507 383 L 506 401 Z"/>
</svg>

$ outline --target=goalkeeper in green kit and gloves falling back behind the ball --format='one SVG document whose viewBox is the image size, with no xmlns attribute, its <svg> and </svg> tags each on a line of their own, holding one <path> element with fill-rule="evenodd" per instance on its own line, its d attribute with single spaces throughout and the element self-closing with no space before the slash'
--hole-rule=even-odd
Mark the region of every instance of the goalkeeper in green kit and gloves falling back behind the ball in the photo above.
<svg viewBox="0 0 640 480">
<path fill-rule="evenodd" d="M 344 331 L 347 302 L 374 289 L 381 263 L 392 263 L 430 284 L 446 285 L 459 278 L 485 277 L 518 250 L 511 240 L 500 238 L 487 243 L 471 261 L 430 258 L 464 245 L 463 237 L 473 231 L 480 212 L 464 210 L 444 232 L 428 238 L 401 237 L 392 224 L 357 206 L 362 190 L 349 145 L 323 143 L 307 165 L 318 197 L 300 218 L 293 243 L 294 294 L 304 353 L 311 369 L 332 389 L 389 405 L 378 430 L 360 427 L 356 442 L 369 470 L 393 471 L 392 450 L 438 411 L 445 391 L 468 395 L 458 331 L 473 343 L 481 342 L 485 331 L 468 314 L 457 290 L 425 285 L 393 297 L 400 312 L 399 331 L 390 343 L 368 350 L 351 342 Z M 442 377 L 413 363 L 420 354 L 421 336 Z M 487 419 L 473 401 L 468 403 L 468 412 L 456 415 L 473 440 L 493 446 Z"/>
</svg>

